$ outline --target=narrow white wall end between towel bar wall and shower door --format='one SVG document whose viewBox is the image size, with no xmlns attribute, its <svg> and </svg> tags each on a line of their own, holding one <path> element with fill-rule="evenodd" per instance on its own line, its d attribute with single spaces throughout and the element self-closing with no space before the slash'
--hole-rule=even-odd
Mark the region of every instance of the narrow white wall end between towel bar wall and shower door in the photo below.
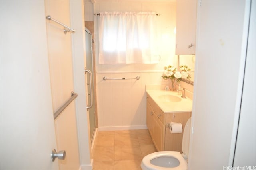
<svg viewBox="0 0 256 170">
<path fill-rule="evenodd" d="M 84 67 L 86 64 L 85 56 L 85 32 L 84 32 L 84 4 L 83 1 L 70 1 L 71 26 L 76 29 L 72 34 L 73 49 L 73 72 L 74 90 L 78 93 L 76 98 L 76 122 L 78 128 L 78 143 L 80 164 L 82 170 L 92 169 L 93 160 L 90 160 L 90 127 L 88 111 L 86 109 L 86 82 Z"/>
</svg>

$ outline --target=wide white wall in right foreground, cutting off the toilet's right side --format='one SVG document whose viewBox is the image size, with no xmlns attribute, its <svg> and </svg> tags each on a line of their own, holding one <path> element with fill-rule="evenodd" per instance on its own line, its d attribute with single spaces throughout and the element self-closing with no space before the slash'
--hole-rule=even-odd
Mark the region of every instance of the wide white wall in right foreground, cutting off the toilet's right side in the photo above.
<svg viewBox="0 0 256 170">
<path fill-rule="evenodd" d="M 215 170 L 232 165 L 246 56 L 248 2 L 201 1 L 198 6 L 188 169 Z"/>
</svg>

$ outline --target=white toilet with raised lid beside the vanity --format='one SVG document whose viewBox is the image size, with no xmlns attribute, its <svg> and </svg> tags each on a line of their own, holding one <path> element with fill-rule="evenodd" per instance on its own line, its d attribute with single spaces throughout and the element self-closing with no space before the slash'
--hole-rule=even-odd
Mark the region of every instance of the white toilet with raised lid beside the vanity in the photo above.
<svg viewBox="0 0 256 170">
<path fill-rule="evenodd" d="M 160 151 L 148 154 L 140 164 L 142 170 L 187 170 L 191 117 L 188 119 L 182 137 L 182 152 Z"/>
</svg>

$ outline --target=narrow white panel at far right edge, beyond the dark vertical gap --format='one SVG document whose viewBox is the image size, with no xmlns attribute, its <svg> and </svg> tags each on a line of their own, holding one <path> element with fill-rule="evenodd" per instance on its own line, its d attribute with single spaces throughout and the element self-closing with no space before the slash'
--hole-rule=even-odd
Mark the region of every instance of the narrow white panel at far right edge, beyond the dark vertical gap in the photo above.
<svg viewBox="0 0 256 170">
<path fill-rule="evenodd" d="M 256 1 L 251 1 L 244 85 L 233 167 L 256 168 Z"/>
</svg>

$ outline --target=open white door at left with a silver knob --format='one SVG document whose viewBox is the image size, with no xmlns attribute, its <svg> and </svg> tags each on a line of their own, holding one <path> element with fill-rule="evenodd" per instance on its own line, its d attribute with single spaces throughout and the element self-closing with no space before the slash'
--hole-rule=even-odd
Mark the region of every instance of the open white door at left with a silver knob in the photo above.
<svg viewBox="0 0 256 170">
<path fill-rule="evenodd" d="M 58 169 L 44 1 L 0 1 L 1 167 Z"/>
</svg>

